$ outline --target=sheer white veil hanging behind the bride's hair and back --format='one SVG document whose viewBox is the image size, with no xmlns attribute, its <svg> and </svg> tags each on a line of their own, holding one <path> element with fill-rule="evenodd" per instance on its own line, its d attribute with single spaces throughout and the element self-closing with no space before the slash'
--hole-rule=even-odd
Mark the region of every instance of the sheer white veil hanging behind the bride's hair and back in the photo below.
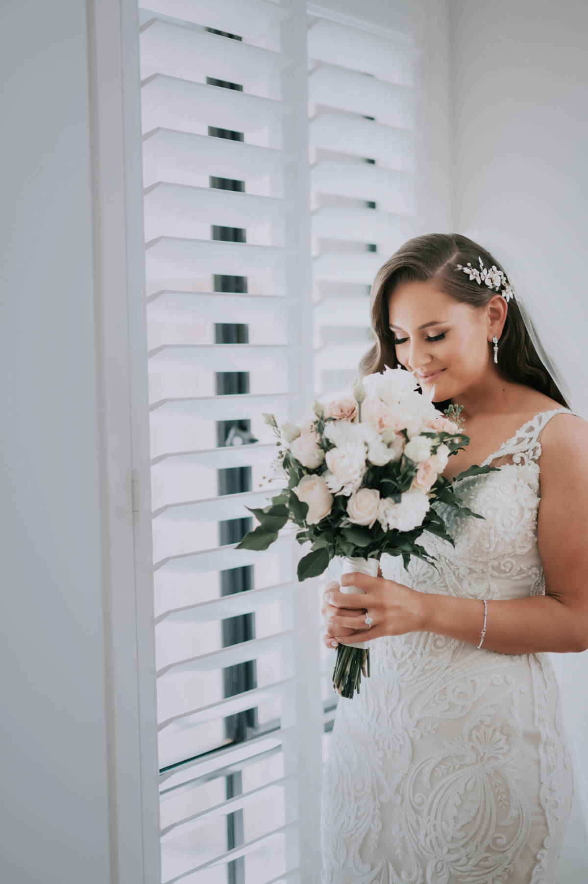
<svg viewBox="0 0 588 884">
<path fill-rule="evenodd" d="M 506 231 L 471 230 L 464 235 L 486 248 L 500 263 L 513 287 L 524 324 L 541 362 L 554 378 L 569 408 L 588 418 L 583 348 L 579 340 L 585 324 L 569 322 L 566 327 L 565 318 L 562 321 L 565 305 L 555 301 L 557 309 L 554 310 L 554 298 L 558 298 L 558 286 L 562 286 L 562 264 L 556 267 L 554 262 L 553 268 L 546 269 L 542 255 L 532 252 L 526 240 L 516 241 Z M 549 275 L 551 272 L 553 278 Z M 547 353 L 541 337 L 554 343 L 557 363 Z M 588 880 L 588 651 L 550 652 L 549 658 L 560 686 L 562 727 L 573 769 L 572 810 L 555 878 L 556 884 L 569 884 Z"/>
</svg>

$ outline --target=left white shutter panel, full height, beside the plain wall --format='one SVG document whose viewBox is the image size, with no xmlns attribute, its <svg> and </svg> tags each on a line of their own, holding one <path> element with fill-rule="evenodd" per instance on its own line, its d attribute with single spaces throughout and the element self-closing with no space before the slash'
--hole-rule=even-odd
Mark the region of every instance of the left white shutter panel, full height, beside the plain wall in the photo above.
<svg viewBox="0 0 588 884">
<path fill-rule="evenodd" d="M 162 881 L 302 882 L 316 586 L 292 530 L 235 545 L 280 487 L 260 488 L 262 412 L 296 420 L 313 392 L 305 12 L 162 0 L 139 20 Z"/>
</svg>

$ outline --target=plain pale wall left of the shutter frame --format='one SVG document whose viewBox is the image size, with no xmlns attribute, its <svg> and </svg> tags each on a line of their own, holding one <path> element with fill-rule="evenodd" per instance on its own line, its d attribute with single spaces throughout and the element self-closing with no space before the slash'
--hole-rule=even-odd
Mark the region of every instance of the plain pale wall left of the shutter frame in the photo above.
<svg viewBox="0 0 588 884">
<path fill-rule="evenodd" d="M 0 34 L 2 878 L 108 884 L 86 5 Z"/>
</svg>

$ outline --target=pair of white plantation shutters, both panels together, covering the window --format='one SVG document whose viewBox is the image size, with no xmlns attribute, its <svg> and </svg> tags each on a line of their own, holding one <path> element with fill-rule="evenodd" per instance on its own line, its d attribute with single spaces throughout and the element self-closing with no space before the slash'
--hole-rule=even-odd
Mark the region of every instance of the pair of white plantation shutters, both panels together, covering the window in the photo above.
<svg viewBox="0 0 588 884">
<path fill-rule="evenodd" d="M 162 882 L 306 884 L 327 576 L 298 583 L 290 527 L 235 546 L 280 487 L 262 412 L 347 392 L 373 274 L 412 234 L 414 54 L 294 0 L 139 21 Z"/>
</svg>

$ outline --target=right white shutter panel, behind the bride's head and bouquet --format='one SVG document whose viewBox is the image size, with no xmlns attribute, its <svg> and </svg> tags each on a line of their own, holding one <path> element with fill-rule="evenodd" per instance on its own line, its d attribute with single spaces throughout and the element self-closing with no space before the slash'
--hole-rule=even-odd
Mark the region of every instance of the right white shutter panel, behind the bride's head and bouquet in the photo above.
<svg viewBox="0 0 588 884">
<path fill-rule="evenodd" d="M 418 230 L 418 56 L 408 35 L 309 10 L 315 385 L 330 398 L 371 346 L 375 273 Z"/>
</svg>

